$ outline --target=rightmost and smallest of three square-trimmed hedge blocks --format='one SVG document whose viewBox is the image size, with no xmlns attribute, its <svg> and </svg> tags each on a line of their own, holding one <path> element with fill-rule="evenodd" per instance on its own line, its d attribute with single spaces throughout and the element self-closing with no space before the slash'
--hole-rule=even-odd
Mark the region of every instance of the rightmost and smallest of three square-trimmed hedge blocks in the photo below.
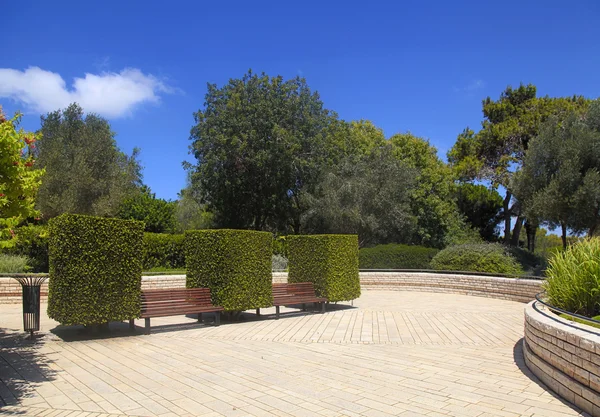
<svg viewBox="0 0 600 417">
<path fill-rule="evenodd" d="M 288 236 L 288 282 L 312 282 L 329 301 L 360 297 L 358 236 Z"/>
</svg>

